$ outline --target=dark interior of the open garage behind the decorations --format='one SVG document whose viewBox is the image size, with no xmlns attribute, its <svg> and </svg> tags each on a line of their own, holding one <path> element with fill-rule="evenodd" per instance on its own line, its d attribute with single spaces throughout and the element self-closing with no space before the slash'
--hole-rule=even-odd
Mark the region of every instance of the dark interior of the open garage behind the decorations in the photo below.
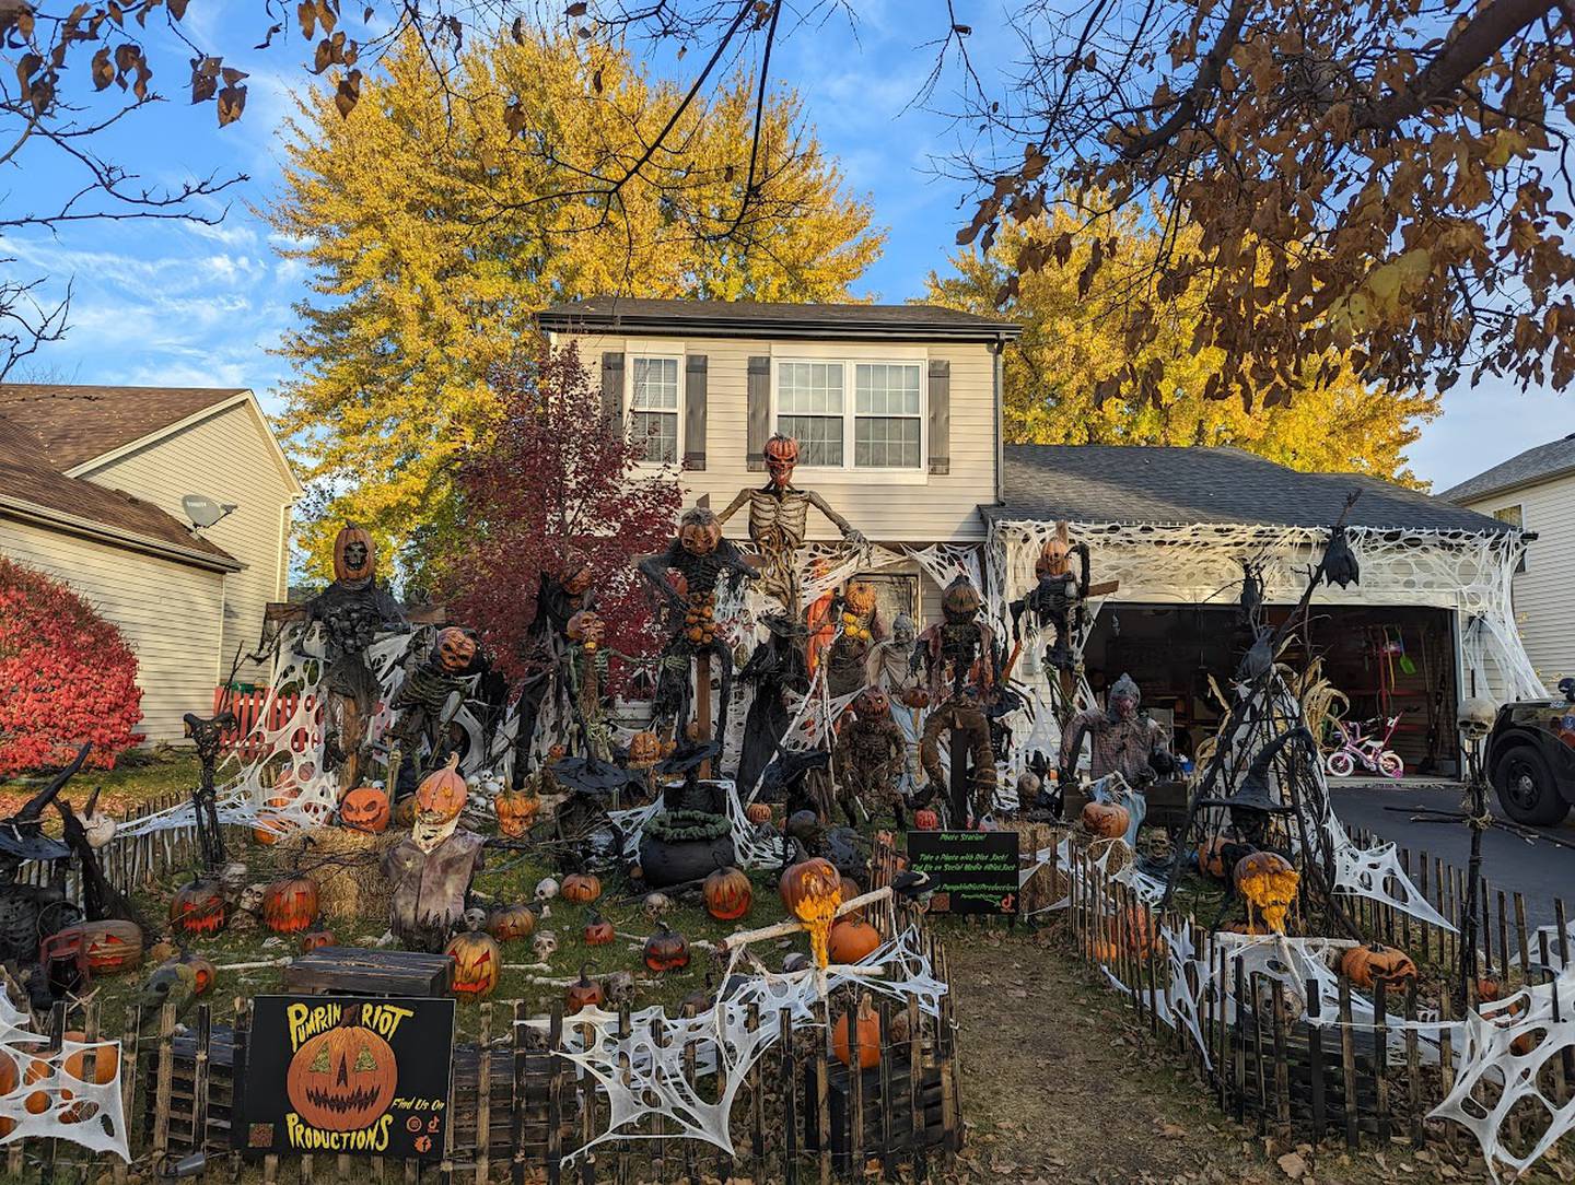
<svg viewBox="0 0 1575 1185">
<path fill-rule="evenodd" d="M 1277 626 L 1292 606 L 1266 606 Z M 1325 677 L 1350 699 L 1347 721 L 1399 714 L 1389 748 L 1405 776 L 1457 777 L 1454 614 L 1399 606 L 1314 606 L 1306 642 L 1280 661 L 1301 669 L 1323 659 Z M 1191 757 L 1219 725 L 1221 705 L 1210 675 L 1228 689 L 1252 636 L 1235 606 L 1106 604 L 1084 648 L 1090 686 L 1129 674 L 1143 707 L 1172 729 L 1178 754 Z M 1367 730 L 1364 730 L 1366 733 Z M 1321 738 L 1329 744 L 1329 738 Z M 1356 776 L 1377 776 L 1358 766 Z"/>
</svg>

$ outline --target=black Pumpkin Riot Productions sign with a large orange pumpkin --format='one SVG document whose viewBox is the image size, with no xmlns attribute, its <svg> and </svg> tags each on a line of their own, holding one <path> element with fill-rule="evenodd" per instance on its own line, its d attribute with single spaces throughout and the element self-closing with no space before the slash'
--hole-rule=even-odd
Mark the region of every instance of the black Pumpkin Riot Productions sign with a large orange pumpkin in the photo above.
<svg viewBox="0 0 1575 1185">
<path fill-rule="evenodd" d="M 236 1139 L 252 1152 L 438 1158 L 452 1045 L 452 999 L 258 996 Z"/>
</svg>

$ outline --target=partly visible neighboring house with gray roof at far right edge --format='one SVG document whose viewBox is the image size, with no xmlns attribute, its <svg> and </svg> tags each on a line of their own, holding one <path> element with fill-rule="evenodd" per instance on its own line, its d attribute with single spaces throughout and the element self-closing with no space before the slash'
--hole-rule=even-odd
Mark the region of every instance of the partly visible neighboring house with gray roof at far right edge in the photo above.
<svg viewBox="0 0 1575 1185">
<path fill-rule="evenodd" d="M 1462 507 L 1526 532 L 1531 546 L 1515 573 L 1515 614 L 1526 653 L 1545 685 L 1575 675 L 1575 433 L 1528 449 L 1446 489 Z"/>
</svg>

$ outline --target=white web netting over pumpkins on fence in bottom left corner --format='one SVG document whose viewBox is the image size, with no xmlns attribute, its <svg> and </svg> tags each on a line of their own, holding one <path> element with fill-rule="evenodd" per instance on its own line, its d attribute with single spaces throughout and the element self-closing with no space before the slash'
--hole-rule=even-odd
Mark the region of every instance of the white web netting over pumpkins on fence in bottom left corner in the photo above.
<svg viewBox="0 0 1575 1185">
<path fill-rule="evenodd" d="M 120 1042 L 63 1040 L 58 1053 L 0 991 L 0 1144 L 55 1136 L 131 1161 Z M 88 1054 L 93 1056 L 91 1072 Z M 107 1069 L 113 1065 L 113 1073 Z M 91 1073 L 94 1081 L 87 1081 Z M 107 1078 L 107 1081 L 96 1081 Z"/>
</svg>

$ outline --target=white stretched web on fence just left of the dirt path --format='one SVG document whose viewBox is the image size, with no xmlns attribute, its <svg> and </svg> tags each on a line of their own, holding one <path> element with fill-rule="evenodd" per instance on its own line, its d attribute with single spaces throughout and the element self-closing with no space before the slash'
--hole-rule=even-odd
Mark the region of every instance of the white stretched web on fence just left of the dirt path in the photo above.
<svg viewBox="0 0 1575 1185">
<path fill-rule="evenodd" d="M 747 949 L 739 949 L 721 977 L 731 985 L 726 999 L 693 1018 L 674 1020 L 660 1007 L 643 1009 L 630 1015 L 628 1037 L 619 1035 L 614 1012 L 589 1007 L 565 1018 L 562 1056 L 606 1094 L 611 1119 L 605 1131 L 567 1154 L 564 1163 L 608 1139 L 658 1138 L 639 1130 L 655 1116 L 677 1125 L 677 1131 L 665 1130 L 660 1138 L 701 1139 L 732 1155 L 732 1103 L 750 1067 L 780 1039 L 776 1018 L 784 1009 L 792 1028 L 816 1024 L 814 1009 L 825 993 L 858 984 L 895 999 L 917 999 L 921 1012 L 939 1015 L 947 985 L 931 974 L 920 941 L 917 930 L 904 930 L 857 968 L 833 963 L 824 979 L 814 968 L 791 974 L 767 971 Z M 743 977 L 740 968 L 753 968 L 753 974 Z M 761 1018 L 753 1029 L 751 1010 Z M 685 1070 L 688 1047 L 695 1047 L 695 1078 L 720 1070 L 713 1092 L 702 1092 Z"/>
</svg>

